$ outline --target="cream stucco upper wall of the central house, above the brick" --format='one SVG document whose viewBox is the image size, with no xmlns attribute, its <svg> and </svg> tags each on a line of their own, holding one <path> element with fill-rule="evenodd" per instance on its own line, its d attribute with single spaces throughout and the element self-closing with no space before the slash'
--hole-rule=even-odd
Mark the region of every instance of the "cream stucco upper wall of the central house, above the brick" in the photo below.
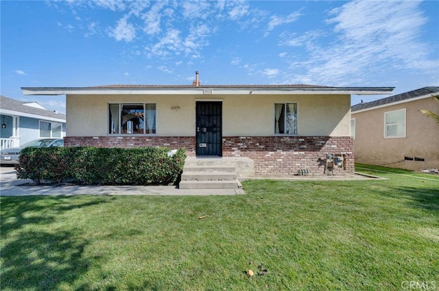
<svg viewBox="0 0 439 291">
<path fill-rule="evenodd" d="M 298 103 L 298 135 L 349 136 L 350 95 L 67 95 L 67 136 L 108 135 L 108 103 L 156 103 L 158 136 L 194 136 L 195 102 L 223 103 L 223 136 L 274 135 L 274 103 Z M 178 110 L 171 107 L 178 106 Z"/>
</svg>

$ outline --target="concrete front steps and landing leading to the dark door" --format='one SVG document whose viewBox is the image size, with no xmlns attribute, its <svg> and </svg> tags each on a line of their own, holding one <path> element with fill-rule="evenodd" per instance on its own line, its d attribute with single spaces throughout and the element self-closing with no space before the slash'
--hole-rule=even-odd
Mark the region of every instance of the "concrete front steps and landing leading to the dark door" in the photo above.
<svg viewBox="0 0 439 291">
<path fill-rule="evenodd" d="M 237 177 L 239 173 L 248 175 L 248 169 L 252 171 L 252 161 L 251 164 L 242 161 L 224 157 L 187 157 L 179 188 L 235 190 L 237 194 L 244 194 Z"/>
</svg>

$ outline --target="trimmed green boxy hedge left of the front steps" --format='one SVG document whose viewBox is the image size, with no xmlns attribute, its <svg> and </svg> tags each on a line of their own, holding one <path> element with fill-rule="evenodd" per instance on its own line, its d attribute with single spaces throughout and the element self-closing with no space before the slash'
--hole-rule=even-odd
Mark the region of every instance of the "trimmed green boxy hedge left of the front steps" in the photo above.
<svg viewBox="0 0 439 291">
<path fill-rule="evenodd" d="M 170 185 L 185 164 L 185 149 L 168 148 L 28 147 L 21 151 L 16 175 L 35 184 Z"/>
</svg>

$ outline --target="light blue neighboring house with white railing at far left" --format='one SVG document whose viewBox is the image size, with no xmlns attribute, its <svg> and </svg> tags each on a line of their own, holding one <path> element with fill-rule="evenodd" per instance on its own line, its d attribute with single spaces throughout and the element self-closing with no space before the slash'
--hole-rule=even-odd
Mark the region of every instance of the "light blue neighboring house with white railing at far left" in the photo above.
<svg viewBox="0 0 439 291">
<path fill-rule="evenodd" d="M 20 147 L 37 138 L 65 136 L 66 116 L 36 102 L 0 96 L 0 149 Z"/>
</svg>

